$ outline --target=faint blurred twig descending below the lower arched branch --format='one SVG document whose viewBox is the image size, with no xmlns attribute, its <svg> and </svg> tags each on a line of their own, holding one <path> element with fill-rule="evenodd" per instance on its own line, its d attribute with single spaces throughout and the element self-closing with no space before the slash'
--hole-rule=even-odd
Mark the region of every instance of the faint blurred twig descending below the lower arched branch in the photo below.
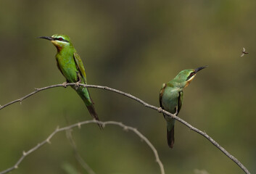
<svg viewBox="0 0 256 174">
<path fill-rule="evenodd" d="M 66 130 L 66 136 L 67 136 L 67 139 L 70 141 L 70 145 L 73 148 L 75 159 L 80 163 L 80 165 L 83 167 L 84 170 L 86 170 L 88 174 L 95 174 L 94 170 L 92 170 L 91 167 L 88 166 L 88 164 L 83 160 L 83 158 L 80 157 L 80 154 L 78 153 L 78 149 L 76 148 L 75 141 L 73 139 L 71 131 L 72 129 Z"/>
</svg>

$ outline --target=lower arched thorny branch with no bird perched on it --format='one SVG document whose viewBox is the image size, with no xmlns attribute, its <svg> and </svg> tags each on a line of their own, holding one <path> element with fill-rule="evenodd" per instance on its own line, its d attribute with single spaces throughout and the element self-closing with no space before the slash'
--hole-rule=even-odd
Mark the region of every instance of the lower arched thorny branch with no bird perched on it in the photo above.
<svg viewBox="0 0 256 174">
<path fill-rule="evenodd" d="M 59 132 L 62 132 L 62 131 L 65 131 L 65 130 L 70 130 L 70 129 L 75 128 L 75 127 L 80 128 L 81 125 L 86 125 L 86 124 L 90 124 L 90 123 L 96 123 L 96 124 L 100 123 L 103 126 L 105 126 L 105 125 L 118 125 L 121 128 L 123 128 L 123 130 L 133 131 L 133 133 L 135 133 L 137 136 L 139 136 L 139 138 L 144 140 L 146 142 L 146 144 L 150 147 L 150 149 L 152 149 L 152 152 L 154 152 L 154 157 L 156 159 L 156 162 L 158 163 L 158 165 L 160 167 L 161 174 L 165 174 L 165 170 L 164 170 L 162 162 L 160 161 L 160 158 L 158 156 L 157 149 L 154 148 L 154 146 L 151 144 L 151 142 L 142 133 L 140 133 L 139 130 L 137 130 L 136 128 L 133 128 L 131 126 L 124 125 L 123 123 L 119 123 L 119 122 L 115 122 L 115 121 L 100 122 L 100 121 L 97 121 L 97 120 L 86 120 L 86 121 L 83 121 L 83 122 L 75 123 L 73 125 L 68 125 L 68 126 L 63 127 L 63 128 L 59 128 L 59 126 L 58 126 L 56 128 L 56 130 L 54 130 L 54 132 L 52 132 L 48 136 L 48 138 L 46 138 L 46 140 L 42 141 L 38 145 L 34 146 L 32 149 L 28 150 L 28 152 L 23 151 L 22 157 L 20 157 L 20 159 L 16 162 L 16 164 L 12 167 L 9 167 L 7 170 L 1 171 L 0 174 L 9 173 L 10 171 L 17 169 L 17 167 L 20 165 L 20 162 L 22 162 L 22 160 L 25 157 L 27 157 L 29 154 L 31 154 L 32 152 L 35 152 L 37 149 L 39 149 L 41 146 L 44 146 L 44 144 L 46 144 L 46 143 L 51 144 L 50 140 L 55 134 L 57 134 Z"/>
</svg>

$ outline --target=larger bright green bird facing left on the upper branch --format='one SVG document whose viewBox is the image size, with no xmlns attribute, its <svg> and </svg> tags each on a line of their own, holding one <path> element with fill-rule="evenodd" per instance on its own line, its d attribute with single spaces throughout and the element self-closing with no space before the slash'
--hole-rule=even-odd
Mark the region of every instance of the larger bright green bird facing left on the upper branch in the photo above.
<svg viewBox="0 0 256 174">
<path fill-rule="evenodd" d="M 41 36 L 39 38 L 45 38 L 56 46 L 57 67 L 67 80 L 67 82 L 63 83 L 63 86 L 65 86 L 66 83 L 77 83 L 76 86 L 72 86 L 72 88 L 74 88 L 80 98 L 83 99 L 83 102 L 86 104 L 91 116 L 96 120 L 99 120 L 94 109 L 94 102 L 91 99 L 88 89 L 83 86 L 78 86 L 78 83 L 87 83 L 86 71 L 83 67 L 82 60 L 76 52 L 73 44 L 70 42 L 70 37 L 67 35 L 54 34 L 51 37 Z"/>
</svg>

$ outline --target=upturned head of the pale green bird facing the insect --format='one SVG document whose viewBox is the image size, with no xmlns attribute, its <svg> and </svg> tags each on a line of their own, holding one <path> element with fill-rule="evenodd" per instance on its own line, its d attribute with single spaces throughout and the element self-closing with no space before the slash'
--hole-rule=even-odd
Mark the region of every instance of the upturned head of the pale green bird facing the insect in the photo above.
<svg viewBox="0 0 256 174">
<path fill-rule="evenodd" d="M 206 65 L 204 67 L 197 67 L 196 69 L 182 70 L 173 80 L 175 80 L 176 83 L 179 83 L 181 88 L 186 88 L 186 86 L 189 86 L 189 83 L 191 83 L 191 81 L 197 75 L 197 72 L 204 69 L 205 67 L 208 66 Z"/>
</svg>

